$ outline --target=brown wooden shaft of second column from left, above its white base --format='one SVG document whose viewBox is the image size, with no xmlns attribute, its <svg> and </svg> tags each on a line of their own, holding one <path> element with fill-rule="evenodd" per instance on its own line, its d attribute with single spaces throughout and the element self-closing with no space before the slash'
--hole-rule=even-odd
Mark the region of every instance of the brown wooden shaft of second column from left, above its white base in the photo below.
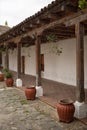
<svg viewBox="0 0 87 130">
<path fill-rule="evenodd" d="M 21 44 L 17 43 L 17 78 L 21 76 Z"/>
</svg>

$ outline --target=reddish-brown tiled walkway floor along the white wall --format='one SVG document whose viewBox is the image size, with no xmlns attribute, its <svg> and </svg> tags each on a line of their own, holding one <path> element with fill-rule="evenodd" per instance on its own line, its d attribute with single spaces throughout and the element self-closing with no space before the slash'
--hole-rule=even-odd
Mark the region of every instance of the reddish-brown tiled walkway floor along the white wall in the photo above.
<svg viewBox="0 0 87 130">
<path fill-rule="evenodd" d="M 14 79 L 16 79 L 17 73 L 14 72 Z M 26 86 L 35 85 L 35 77 L 30 75 L 21 74 L 23 81 L 23 88 Z M 40 97 L 41 100 L 48 103 L 49 105 L 56 107 L 57 102 L 63 98 L 70 98 L 73 101 L 76 100 L 76 87 L 66 85 L 63 83 L 42 79 L 42 86 L 44 96 Z M 87 103 L 87 90 L 85 90 L 86 103 Z"/>
</svg>

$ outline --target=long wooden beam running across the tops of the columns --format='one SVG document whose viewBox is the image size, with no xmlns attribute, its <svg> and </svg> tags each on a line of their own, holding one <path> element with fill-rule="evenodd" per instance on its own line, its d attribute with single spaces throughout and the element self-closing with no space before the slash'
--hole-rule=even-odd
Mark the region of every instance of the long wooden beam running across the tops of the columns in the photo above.
<svg viewBox="0 0 87 130">
<path fill-rule="evenodd" d="M 64 17 L 64 18 L 61 18 L 61 19 L 58 19 L 58 20 L 55 20 L 55 21 L 53 21 L 53 22 L 51 22 L 51 23 L 49 23 L 49 24 L 44 24 L 43 26 L 41 26 L 41 27 L 38 27 L 38 28 L 34 28 L 34 29 L 27 29 L 27 32 L 26 32 L 26 34 L 28 34 L 28 35 L 32 35 L 32 34 L 35 34 L 36 32 L 37 32 L 37 34 L 38 35 L 40 35 L 45 29 L 49 29 L 49 28 L 53 28 L 53 27 L 55 27 L 55 26 L 61 26 L 61 25 L 63 25 L 63 24 L 65 24 L 65 25 L 69 25 L 68 24 L 68 21 L 70 21 L 71 19 L 73 19 L 73 18 L 77 18 L 78 20 L 77 21 L 79 21 L 79 18 L 78 18 L 78 16 L 84 16 L 84 15 L 87 15 L 87 9 L 85 9 L 85 10 L 83 10 L 83 11 L 80 11 L 80 12 L 78 12 L 78 13 L 75 13 L 75 14 L 73 14 L 73 15 L 71 15 L 71 16 L 67 16 L 67 17 Z M 84 17 L 84 19 L 87 19 L 86 17 Z M 81 20 L 84 20 L 83 18 L 82 19 L 80 19 L 80 21 Z M 76 20 L 75 20 L 76 21 Z M 73 23 L 73 24 L 75 24 L 75 22 Z M 29 27 L 29 23 L 28 24 L 26 24 L 26 26 L 27 26 L 27 28 Z M 25 27 L 24 27 L 25 28 Z M 21 34 L 21 35 L 18 35 L 18 36 L 16 36 L 16 37 L 22 37 L 24 34 Z M 15 39 L 15 38 L 12 38 L 12 39 Z M 4 35 L 2 36 L 2 37 L 0 37 L 0 41 L 2 42 L 2 40 L 3 41 L 9 41 L 9 40 L 11 40 L 11 39 L 9 39 L 9 38 L 7 38 L 6 40 L 4 39 Z"/>
</svg>

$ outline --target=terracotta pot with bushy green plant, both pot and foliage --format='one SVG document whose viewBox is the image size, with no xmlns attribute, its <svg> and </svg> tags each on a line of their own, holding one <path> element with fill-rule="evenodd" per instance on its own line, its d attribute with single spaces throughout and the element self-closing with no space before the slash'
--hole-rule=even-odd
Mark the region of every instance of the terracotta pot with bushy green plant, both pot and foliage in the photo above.
<svg viewBox="0 0 87 130">
<path fill-rule="evenodd" d="M 13 74 L 11 71 L 8 71 L 5 73 L 5 78 L 6 78 L 5 82 L 6 82 L 7 87 L 13 86 L 14 80 L 13 80 Z"/>
</svg>

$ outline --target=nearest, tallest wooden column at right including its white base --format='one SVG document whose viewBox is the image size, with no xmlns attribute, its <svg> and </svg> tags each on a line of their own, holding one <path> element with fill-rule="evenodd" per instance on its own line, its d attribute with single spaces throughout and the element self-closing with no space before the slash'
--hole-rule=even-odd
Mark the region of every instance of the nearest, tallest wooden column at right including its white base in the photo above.
<svg viewBox="0 0 87 130">
<path fill-rule="evenodd" d="M 87 105 L 85 104 L 84 90 L 84 25 L 75 25 L 76 33 L 76 102 L 75 117 L 84 118 L 87 116 Z"/>
</svg>

